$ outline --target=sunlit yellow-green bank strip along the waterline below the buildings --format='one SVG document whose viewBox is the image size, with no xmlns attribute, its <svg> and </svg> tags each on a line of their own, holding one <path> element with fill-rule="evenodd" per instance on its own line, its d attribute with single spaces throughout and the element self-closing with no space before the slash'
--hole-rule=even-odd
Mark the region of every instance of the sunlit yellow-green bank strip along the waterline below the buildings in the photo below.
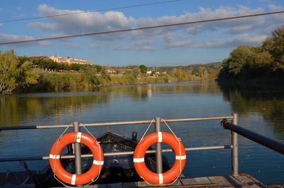
<svg viewBox="0 0 284 188">
<path fill-rule="evenodd" d="M 138 74 L 85 74 L 84 72 L 41 72 L 38 83 L 26 88 L 20 88 L 16 92 L 81 92 L 91 91 L 96 87 L 133 84 L 153 84 L 168 82 L 184 82 L 201 80 L 192 74 L 184 74 L 178 77 L 176 74 L 162 74 L 148 76 Z"/>
</svg>

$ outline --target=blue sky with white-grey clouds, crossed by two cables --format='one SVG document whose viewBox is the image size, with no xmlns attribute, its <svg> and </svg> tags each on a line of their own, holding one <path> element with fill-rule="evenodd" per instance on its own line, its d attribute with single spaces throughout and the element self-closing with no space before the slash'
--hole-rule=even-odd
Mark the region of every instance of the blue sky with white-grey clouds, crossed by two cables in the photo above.
<svg viewBox="0 0 284 188">
<path fill-rule="evenodd" d="M 160 1 L 12 0 L 2 2 L 0 5 L 0 22 Z M 180 0 L 129 9 L 0 23 L 0 42 L 155 26 L 270 11 L 284 11 L 284 1 Z M 13 49 L 17 55 L 26 56 L 76 57 L 107 66 L 192 65 L 222 61 L 238 45 L 261 45 L 261 41 L 271 35 L 271 31 L 282 25 L 284 25 L 284 14 L 279 14 L 176 28 L 96 35 L 21 45 L 1 45 L 0 50 Z"/>
</svg>

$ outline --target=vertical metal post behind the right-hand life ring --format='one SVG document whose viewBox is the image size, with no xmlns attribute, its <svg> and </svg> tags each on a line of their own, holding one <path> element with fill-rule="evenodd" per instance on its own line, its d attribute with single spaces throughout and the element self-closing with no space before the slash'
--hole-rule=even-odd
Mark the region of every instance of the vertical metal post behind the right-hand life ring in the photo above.
<svg viewBox="0 0 284 188">
<path fill-rule="evenodd" d="M 160 118 L 155 118 L 155 132 L 160 132 Z M 158 174 L 163 173 L 163 157 L 162 157 L 162 143 L 156 143 L 155 144 L 155 160 L 157 162 L 156 164 L 156 172 Z"/>
</svg>

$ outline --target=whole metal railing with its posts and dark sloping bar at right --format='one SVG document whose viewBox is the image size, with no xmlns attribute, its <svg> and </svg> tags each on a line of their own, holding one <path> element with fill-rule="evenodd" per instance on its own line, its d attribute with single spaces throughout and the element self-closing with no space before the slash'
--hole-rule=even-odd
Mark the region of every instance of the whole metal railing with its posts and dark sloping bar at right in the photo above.
<svg viewBox="0 0 284 188">
<path fill-rule="evenodd" d="M 271 148 L 272 150 L 277 151 L 278 153 L 284 154 L 284 145 L 282 143 L 278 143 L 275 140 L 271 140 L 264 136 L 258 135 L 257 133 L 253 133 L 249 130 L 241 128 L 238 125 L 238 115 L 232 114 L 232 116 L 215 116 L 215 117 L 205 117 L 205 118 L 179 118 L 179 119 L 165 119 L 165 122 L 185 122 L 185 121 L 209 121 L 209 120 L 222 120 L 222 126 L 225 129 L 229 129 L 231 131 L 231 145 L 216 145 L 216 146 L 207 146 L 207 147 L 196 147 L 196 148 L 185 148 L 186 151 L 193 150 L 217 150 L 217 149 L 230 149 L 231 148 L 231 168 L 232 175 L 239 175 L 239 161 L 238 161 L 238 134 L 249 138 L 250 140 L 255 141 L 256 143 L 260 143 L 261 145 L 266 146 L 267 148 Z M 229 121 L 231 120 L 231 123 Z M 90 126 L 122 126 L 122 125 L 133 125 L 133 124 L 147 124 L 151 123 L 152 120 L 148 121 L 123 121 L 123 122 L 109 122 L 109 123 L 88 123 L 84 124 L 85 127 Z M 155 131 L 160 131 L 160 118 L 156 117 L 155 120 Z M 8 131 L 8 130 L 25 130 L 25 129 L 43 129 L 43 128 L 67 128 L 73 127 L 73 131 L 80 131 L 80 123 L 74 122 L 72 125 L 43 125 L 43 126 L 22 126 L 22 127 L 0 127 L 0 131 Z M 162 165 L 162 153 L 173 152 L 171 149 L 162 150 L 160 144 L 157 144 L 155 150 L 148 150 L 146 153 L 156 153 L 157 160 L 157 172 L 163 172 Z M 92 157 L 92 154 L 81 154 L 81 146 L 80 143 L 75 143 L 75 155 L 62 155 L 62 159 L 70 159 L 75 158 L 75 166 L 77 175 L 82 174 L 82 165 L 81 158 L 82 157 Z M 104 156 L 113 156 L 113 155 L 133 155 L 133 151 L 128 152 L 114 152 L 114 153 L 104 153 Z M 10 161 L 20 161 L 20 160 L 48 160 L 49 156 L 41 156 L 41 157 L 14 157 L 14 158 L 2 158 L 0 162 L 10 162 Z"/>
</svg>

